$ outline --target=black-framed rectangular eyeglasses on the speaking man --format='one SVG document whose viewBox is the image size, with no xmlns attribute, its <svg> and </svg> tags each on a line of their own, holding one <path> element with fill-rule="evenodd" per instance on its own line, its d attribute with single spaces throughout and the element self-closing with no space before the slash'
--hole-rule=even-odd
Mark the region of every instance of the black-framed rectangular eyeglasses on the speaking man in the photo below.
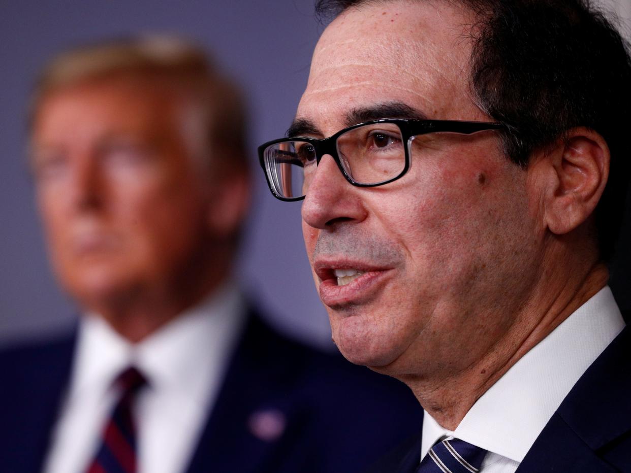
<svg viewBox="0 0 631 473">
<path fill-rule="evenodd" d="M 501 123 L 461 120 L 380 119 L 363 122 L 324 139 L 287 137 L 259 146 L 269 190 L 281 201 L 305 198 L 322 156 L 330 155 L 350 184 L 384 185 L 410 169 L 410 157 L 436 149 L 445 134 L 504 130 Z"/>
</svg>

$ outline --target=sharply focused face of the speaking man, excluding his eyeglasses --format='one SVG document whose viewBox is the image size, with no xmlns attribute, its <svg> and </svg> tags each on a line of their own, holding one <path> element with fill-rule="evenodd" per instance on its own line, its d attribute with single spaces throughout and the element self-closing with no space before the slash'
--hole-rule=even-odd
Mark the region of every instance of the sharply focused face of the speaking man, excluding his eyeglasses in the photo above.
<svg viewBox="0 0 631 473">
<path fill-rule="evenodd" d="M 398 1 L 339 16 L 315 49 L 298 134 L 385 117 L 492 121 L 469 94 L 461 25 L 471 21 L 446 3 Z M 492 351 L 540 258 L 528 172 L 495 132 L 426 148 L 403 178 L 369 189 L 324 156 L 302 207 L 334 341 L 350 361 L 394 375 L 455 373 Z"/>
</svg>

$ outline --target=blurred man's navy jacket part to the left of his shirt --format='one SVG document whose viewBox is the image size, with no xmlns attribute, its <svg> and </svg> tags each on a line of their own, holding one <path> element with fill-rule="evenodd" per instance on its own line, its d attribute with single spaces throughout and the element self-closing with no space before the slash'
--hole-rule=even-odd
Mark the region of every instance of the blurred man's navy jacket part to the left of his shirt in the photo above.
<svg viewBox="0 0 631 473">
<path fill-rule="evenodd" d="M 35 473 L 42 469 L 75 343 L 76 331 L 54 344 L 16 351 L 5 360 L 11 366 L 2 366 L 10 381 L 0 390 L 0 470 Z"/>
</svg>

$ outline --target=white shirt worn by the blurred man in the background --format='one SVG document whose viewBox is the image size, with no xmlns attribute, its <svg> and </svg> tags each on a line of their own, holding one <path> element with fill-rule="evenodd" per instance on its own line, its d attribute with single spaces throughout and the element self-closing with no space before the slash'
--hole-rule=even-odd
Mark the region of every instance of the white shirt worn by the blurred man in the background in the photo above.
<svg viewBox="0 0 631 473">
<path fill-rule="evenodd" d="M 44 472 L 85 472 L 118 398 L 112 383 L 130 365 L 148 380 L 135 412 L 139 473 L 184 471 L 244 320 L 245 304 L 233 285 L 135 345 L 102 318 L 84 317 Z"/>
</svg>

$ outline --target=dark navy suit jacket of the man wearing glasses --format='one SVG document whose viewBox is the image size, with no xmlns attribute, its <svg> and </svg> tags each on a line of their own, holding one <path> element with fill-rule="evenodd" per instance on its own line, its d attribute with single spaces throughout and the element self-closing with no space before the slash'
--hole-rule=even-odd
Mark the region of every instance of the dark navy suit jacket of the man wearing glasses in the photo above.
<svg viewBox="0 0 631 473">
<path fill-rule="evenodd" d="M 414 473 L 417 434 L 373 473 Z M 517 473 L 631 472 L 631 327 L 585 371 L 538 436 Z"/>
</svg>

